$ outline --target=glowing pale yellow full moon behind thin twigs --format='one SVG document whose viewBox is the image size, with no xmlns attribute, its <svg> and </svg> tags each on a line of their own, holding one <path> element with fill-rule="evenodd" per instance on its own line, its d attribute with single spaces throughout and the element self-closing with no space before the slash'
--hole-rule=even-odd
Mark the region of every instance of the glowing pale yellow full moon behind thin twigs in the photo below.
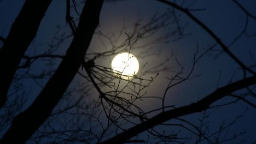
<svg viewBox="0 0 256 144">
<path fill-rule="evenodd" d="M 139 70 L 137 58 L 128 52 L 119 53 L 115 56 L 111 65 L 115 73 L 126 78 L 137 74 Z"/>
</svg>

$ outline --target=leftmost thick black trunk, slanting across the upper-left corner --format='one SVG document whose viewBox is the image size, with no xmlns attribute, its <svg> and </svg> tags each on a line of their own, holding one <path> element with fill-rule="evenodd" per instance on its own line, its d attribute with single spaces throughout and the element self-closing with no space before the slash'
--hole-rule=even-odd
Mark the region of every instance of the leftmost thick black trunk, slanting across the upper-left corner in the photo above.
<svg viewBox="0 0 256 144">
<path fill-rule="evenodd" d="M 11 26 L 0 51 L 0 108 L 7 101 L 7 93 L 16 69 L 27 47 L 36 37 L 38 27 L 51 0 L 27 0 Z"/>
</svg>

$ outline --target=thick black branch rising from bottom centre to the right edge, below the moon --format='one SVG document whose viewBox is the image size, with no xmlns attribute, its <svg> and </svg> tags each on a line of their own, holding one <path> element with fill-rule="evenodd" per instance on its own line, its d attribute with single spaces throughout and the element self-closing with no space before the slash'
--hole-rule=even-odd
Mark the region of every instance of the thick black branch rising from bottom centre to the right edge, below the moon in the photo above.
<svg viewBox="0 0 256 144">
<path fill-rule="evenodd" d="M 256 76 L 248 77 L 240 81 L 236 81 L 222 88 L 218 88 L 213 93 L 207 95 L 205 98 L 197 101 L 196 103 L 179 107 L 166 112 L 161 112 L 159 115 L 156 115 L 148 121 L 136 125 L 130 129 L 127 129 L 123 133 L 118 134 L 117 136 L 112 137 L 111 139 L 101 142 L 101 143 L 124 143 L 126 140 L 131 139 L 133 136 L 136 136 L 143 131 L 146 131 L 150 128 L 154 128 L 156 125 L 169 121 L 170 119 L 189 115 L 195 112 L 201 112 L 208 109 L 208 107 L 215 101 L 222 99 L 226 95 L 231 94 L 232 92 L 238 91 L 242 88 L 246 88 L 251 85 L 256 84 Z"/>
</svg>

